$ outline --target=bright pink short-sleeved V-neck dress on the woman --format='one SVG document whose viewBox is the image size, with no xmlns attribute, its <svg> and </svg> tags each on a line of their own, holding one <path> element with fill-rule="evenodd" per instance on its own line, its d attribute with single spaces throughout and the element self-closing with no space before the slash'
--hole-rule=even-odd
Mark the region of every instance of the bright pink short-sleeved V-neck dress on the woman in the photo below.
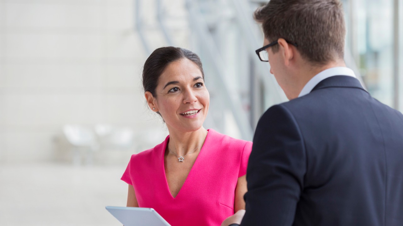
<svg viewBox="0 0 403 226">
<path fill-rule="evenodd" d="M 169 136 L 154 148 L 133 154 L 122 180 L 133 185 L 139 207 L 154 208 L 172 226 L 219 226 L 234 214 L 235 187 L 238 177 L 246 174 L 252 142 L 209 129 L 174 198 L 164 169 L 168 141 Z"/>
</svg>

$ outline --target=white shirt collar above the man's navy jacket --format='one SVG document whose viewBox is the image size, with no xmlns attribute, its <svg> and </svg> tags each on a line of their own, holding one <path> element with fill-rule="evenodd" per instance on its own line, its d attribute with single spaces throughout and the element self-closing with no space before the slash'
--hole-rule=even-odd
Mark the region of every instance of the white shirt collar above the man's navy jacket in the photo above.
<svg viewBox="0 0 403 226">
<path fill-rule="evenodd" d="M 355 74 L 353 72 L 353 70 L 351 70 L 350 68 L 346 68 L 346 67 L 335 67 L 335 68 L 329 68 L 326 69 L 322 72 L 319 72 L 319 74 L 315 75 L 313 78 L 311 78 L 311 80 L 309 80 L 307 82 L 307 84 L 305 84 L 305 86 L 302 88 L 301 92 L 299 93 L 298 97 L 302 97 L 304 95 L 307 95 L 308 93 L 310 93 L 312 91 L 312 89 L 322 80 L 324 80 L 325 78 L 329 78 L 335 75 L 347 75 L 347 76 L 351 76 L 351 77 L 355 77 Z"/>
</svg>

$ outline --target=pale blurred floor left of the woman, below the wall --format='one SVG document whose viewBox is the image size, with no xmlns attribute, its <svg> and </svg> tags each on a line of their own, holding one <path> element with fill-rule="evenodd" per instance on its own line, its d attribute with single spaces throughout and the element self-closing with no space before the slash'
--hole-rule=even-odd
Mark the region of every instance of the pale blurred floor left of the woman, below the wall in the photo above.
<svg viewBox="0 0 403 226">
<path fill-rule="evenodd" d="M 125 206 L 126 165 L 0 165 L 1 226 L 121 226 L 106 205 Z"/>
</svg>

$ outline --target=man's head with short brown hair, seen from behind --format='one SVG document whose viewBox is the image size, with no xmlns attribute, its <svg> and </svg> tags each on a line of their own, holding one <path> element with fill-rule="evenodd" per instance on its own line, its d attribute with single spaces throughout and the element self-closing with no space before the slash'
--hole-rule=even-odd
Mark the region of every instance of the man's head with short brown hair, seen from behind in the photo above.
<svg viewBox="0 0 403 226">
<path fill-rule="evenodd" d="M 271 44 L 265 48 L 270 72 L 288 99 L 298 97 L 322 70 L 345 66 L 345 23 L 339 0 L 270 0 L 255 11 L 254 18 L 262 23 L 264 45 Z"/>
</svg>

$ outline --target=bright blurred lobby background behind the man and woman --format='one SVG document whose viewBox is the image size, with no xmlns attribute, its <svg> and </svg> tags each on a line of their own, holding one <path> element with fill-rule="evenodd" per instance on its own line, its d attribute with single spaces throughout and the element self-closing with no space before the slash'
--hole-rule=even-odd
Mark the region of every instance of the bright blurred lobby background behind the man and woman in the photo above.
<svg viewBox="0 0 403 226">
<path fill-rule="evenodd" d="M 287 101 L 254 50 L 260 0 L 0 0 L 0 225 L 120 225 L 131 154 L 168 131 L 145 104 L 142 65 L 174 45 L 202 58 L 206 128 L 251 140 Z M 403 1 L 343 0 L 345 61 L 403 109 Z"/>
</svg>

